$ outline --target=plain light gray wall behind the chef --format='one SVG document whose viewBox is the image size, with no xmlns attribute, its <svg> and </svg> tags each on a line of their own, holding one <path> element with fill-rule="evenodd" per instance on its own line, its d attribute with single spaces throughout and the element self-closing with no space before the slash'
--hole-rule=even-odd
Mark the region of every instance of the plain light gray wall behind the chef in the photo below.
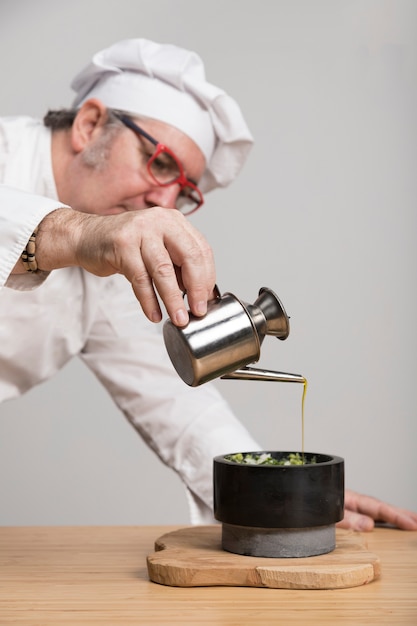
<svg viewBox="0 0 417 626">
<path fill-rule="evenodd" d="M 200 53 L 256 139 L 192 218 L 220 289 L 277 292 L 291 334 L 260 365 L 307 377 L 306 448 L 414 510 L 416 24 L 413 0 L 0 2 L 1 115 L 68 106 L 118 39 Z M 300 448 L 301 386 L 216 385 L 265 447 Z M 78 360 L 0 407 L 0 524 L 146 523 L 188 523 L 183 487 Z"/>
</svg>

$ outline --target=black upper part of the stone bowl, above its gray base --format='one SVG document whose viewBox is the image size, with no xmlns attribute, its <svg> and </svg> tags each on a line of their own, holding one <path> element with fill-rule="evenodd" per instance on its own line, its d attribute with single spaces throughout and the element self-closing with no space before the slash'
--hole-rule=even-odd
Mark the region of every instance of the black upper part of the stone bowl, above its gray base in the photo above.
<svg viewBox="0 0 417 626">
<path fill-rule="evenodd" d="M 278 460 L 289 454 L 243 454 L 265 453 Z M 215 457 L 214 517 L 227 524 L 260 528 L 339 522 L 344 507 L 343 459 L 312 452 L 305 452 L 304 457 L 304 465 L 245 465 Z M 316 463 L 309 462 L 313 457 Z"/>
</svg>

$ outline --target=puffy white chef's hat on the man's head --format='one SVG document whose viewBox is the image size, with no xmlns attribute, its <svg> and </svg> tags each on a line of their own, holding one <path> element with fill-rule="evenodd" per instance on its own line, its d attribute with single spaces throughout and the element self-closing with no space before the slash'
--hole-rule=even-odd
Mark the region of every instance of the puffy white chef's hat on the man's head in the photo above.
<svg viewBox="0 0 417 626">
<path fill-rule="evenodd" d="M 253 143 L 237 102 L 207 82 L 195 53 L 147 39 L 126 39 L 97 52 L 71 83 L 74 107 L 98 98 L 187 134 L 206 157 L 202 191 L 228 185 Z"/>
</svg>

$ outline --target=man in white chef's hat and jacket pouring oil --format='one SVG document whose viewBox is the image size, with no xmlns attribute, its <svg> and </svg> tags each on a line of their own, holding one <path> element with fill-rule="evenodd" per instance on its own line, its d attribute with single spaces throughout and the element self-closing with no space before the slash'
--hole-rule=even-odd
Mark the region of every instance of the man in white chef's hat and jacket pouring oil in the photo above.
<svg viewBox="0 0 417 626">
<path fill-rule="evenodd" d="M 68 111 L 0 122 L 0 400 L 79 355 L 212 521 L 212 458 L 260 449 L 211 385 L 174 372 L 158 296 L 179 326 L 204 315 L 210 246 L 180 213 L 228 185 L 252 143 L 236 102 L 200 58 L 126 40 L 97 53 Z M 126 280 L 127 279 L 127 280 Z M 129 285 L 130 283 L 130 285 Z M 143 309 L 141 316 L 138 301 Z M 346 492 L 342 523 L 417 529 L 417 515 Z"/>
</svg>

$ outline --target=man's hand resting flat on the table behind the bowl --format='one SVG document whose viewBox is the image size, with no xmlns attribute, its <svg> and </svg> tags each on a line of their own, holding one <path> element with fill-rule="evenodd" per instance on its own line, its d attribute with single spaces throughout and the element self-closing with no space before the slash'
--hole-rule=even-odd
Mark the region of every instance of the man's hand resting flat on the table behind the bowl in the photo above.
<svg viewBox="0 0 417 626">
<path fill-rule="evenodd" d="M 377 498 L 363 496 L 349 489 L 345 492 L 345 517 L 339 528 L 372 530 L 376 522 L 383 522 L 402 530 L 417 530 L 417 513 L 386 504 Z"/>
</svg>

